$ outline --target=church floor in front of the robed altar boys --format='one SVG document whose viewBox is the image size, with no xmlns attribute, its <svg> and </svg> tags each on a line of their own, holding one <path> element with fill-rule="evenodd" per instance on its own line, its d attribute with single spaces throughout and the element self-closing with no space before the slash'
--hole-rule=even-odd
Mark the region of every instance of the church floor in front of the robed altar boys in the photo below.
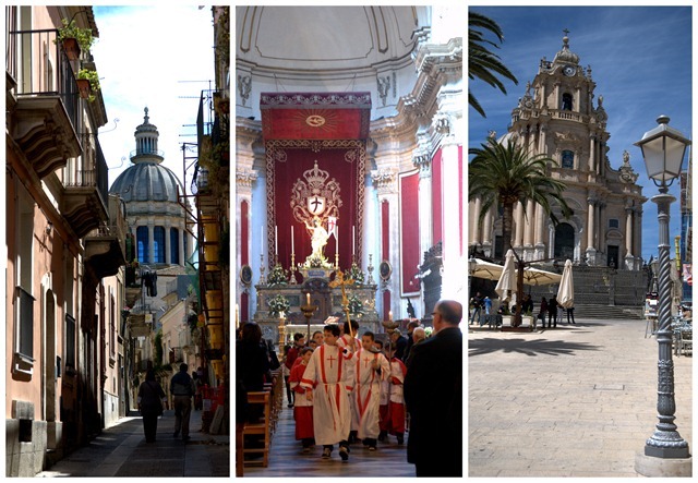
<svg viewBox="0 0 698 483">
<path fill-rule="evenodd" d="M 272 438 L 268 468 L 245 467 L 244 476 L 349 476 L 349 478 L 405 478 L 414 476 L 414 466 L 407 462 L 407 437 L 398 446 L 395 436 L 378 442 L 377 451 L 369 451 L 363 445 L 351 446 L 349 461 L 342 463 L 337 446 L 332 459 L 321 459 L 322 446 L 315 446 L 310 455 L 301 455 L 301 443 L 296 440 L 293 410 L 284 408 L 276 434 Z"/>
</svg>

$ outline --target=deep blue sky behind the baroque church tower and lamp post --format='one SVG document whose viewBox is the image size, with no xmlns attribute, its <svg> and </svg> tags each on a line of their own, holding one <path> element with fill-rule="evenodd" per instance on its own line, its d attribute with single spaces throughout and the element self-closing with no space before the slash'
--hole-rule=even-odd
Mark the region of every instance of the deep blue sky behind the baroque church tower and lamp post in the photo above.
<svg viewBox="0 0 698 483">
<path fill-rule="evenodd" d="M 691 9 L 688 7 L 477 7 L 471 11 L 494 20 L 504 32 L 496 53 L 518 79 L 505 82 L 507 95 L 481 81 L 469 83 L 486 119 L 468 108 L 468 145 L 479 147 L 488 132 L 507 132 L 512 109 L 533 81 L 540 60 L 553 60 L 562 49 L 563 29 L 569 29 L 569 49 L 580 65 L 591 65 L 597 83 L 594 104 L 603 96 L 611 134 L 607 153 L 617 169 L 623 150 L 640 177 L 648 198 L 658 193 L 648 180 L 641 150 L 633 144 L 657 125 L 660 114 L 693 141 Z M 495 40 L 494 37 L 490 38 Z M 688 156 L 684 159 L 687 168 Z M 678 200 L 677 182 L 670 192 Z M 681 234 L 678 201 L 672 205 L 670 240 Z M 642 257 L 657 257 L 657 205 L 648 201 L 642 215 Z M 673 250 L 672 250 L 673 253 Z"/>
</svg>

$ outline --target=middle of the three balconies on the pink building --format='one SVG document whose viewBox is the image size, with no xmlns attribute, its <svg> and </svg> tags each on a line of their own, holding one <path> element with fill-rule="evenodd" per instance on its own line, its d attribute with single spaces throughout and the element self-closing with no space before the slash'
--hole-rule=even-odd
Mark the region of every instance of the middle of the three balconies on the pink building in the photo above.
<svg viewBox="0 0 698 483">
<path fill-rule="evenodd" d="M 85 149 L 77 166 L 69 166 L 63 179 L 61 212 L 77 238 L 85 237 L 109 220 L 106 208 L 109 195 L 107 161 L 97 137 L 83 137 Z"/>
</svg>

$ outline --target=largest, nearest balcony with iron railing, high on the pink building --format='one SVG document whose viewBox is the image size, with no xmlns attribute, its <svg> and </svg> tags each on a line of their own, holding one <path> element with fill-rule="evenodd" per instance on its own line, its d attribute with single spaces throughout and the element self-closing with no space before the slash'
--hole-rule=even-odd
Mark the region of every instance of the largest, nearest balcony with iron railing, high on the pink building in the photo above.
<svg viewBox="0 0 698 483">
<path fill-rule="evenodd" d="M 8 128 L 39 178 L 80 156 L 80 94 L 73 67 L 53 44 L 56 29 L 8 35 Z"/>
</svg>

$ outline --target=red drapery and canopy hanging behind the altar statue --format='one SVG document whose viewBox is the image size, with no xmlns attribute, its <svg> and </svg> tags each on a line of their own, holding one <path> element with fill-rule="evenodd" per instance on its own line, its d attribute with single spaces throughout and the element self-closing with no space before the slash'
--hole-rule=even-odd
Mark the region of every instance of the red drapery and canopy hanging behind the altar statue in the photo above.
<svg viewBox="0 0 698 483">
<path fill-rule="evenodd" d="M 354 240 L 360 263 L 371 94 L 262 93 L 260 107 L 266 147 L 267 261 L 273 263 L 278 244 L 278 262 L 284 267 L 290 266 L 291 226 L 296 263 L 303 263 L 311 254 L 311 234 L 293 216 L 291 197 L 294 184 L 305 181 L 304 172 L 313 170 L 317 161 L 317 168 L 328 173 L 328 180 L 339 184 L 339 266 L 346 269 L 351 265 Z M 325 216 L 321 217 L 327 228 Z M 332 264 L 336 251 L 333 236 L 324 250 Z"/>
</svg>

